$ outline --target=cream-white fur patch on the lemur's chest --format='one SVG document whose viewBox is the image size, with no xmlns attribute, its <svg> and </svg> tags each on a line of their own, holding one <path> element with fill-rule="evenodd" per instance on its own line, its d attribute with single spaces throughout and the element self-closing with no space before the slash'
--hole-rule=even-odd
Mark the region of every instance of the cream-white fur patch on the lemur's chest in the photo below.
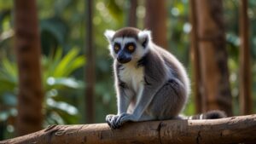
<svg viewBox="0 0 256 144">
<path fill-rule="evenodd" d="M 119 71 L 119 78 L 127 86 L 134 90 L 139 91 L 143 87 L 144 83 L 144 72 L 143 67 L 137 67 L 131 64 L 124 65 Z"/>
</svg>

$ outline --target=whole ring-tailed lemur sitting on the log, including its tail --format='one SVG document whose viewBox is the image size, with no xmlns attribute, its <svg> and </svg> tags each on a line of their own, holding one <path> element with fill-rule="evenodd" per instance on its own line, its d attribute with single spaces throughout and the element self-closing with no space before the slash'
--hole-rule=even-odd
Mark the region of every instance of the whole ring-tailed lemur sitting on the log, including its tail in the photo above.
<svg viewBox="0 0 256 144">
<path fill-rule="evenodd" d="M 187 73 L 177 58 L 154 44 L 149 31 L 126 27 L 117 32 L 107 30 L 105 37 L 113 57 L 118 101 L 117 115 L 106 117 L 109 126 L 116 129 L 127 121 L 181 118 L 178 114 L 190 89 Z M 207 112 L 198 117 L 215 116 L 222 118 L 224 114 Z"/>
</svg>

